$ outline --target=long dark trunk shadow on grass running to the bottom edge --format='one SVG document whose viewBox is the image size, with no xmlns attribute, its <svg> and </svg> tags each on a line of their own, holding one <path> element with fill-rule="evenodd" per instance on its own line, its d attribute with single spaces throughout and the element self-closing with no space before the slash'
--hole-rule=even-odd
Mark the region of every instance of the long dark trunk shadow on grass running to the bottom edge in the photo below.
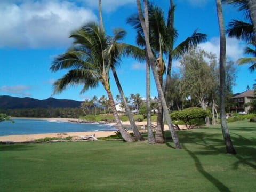
<svg viewBox="0 0 256 192">
<path fill-rule="evenodd" d="M 225 186 L 222 182 L 204 170 L 204 167 L 202 166 L 199 158 L 195 155 L 195 153 L 188 150 L 185 145 L 182 145 L 182 148 L 186 150 L 188 154 L 194 159 L 197 171 L 201 173 L 207 180 L 209 180 L 214 186 L 216 186 L 219 191 L 230 191 L 227 186 Z"/>
</svg>

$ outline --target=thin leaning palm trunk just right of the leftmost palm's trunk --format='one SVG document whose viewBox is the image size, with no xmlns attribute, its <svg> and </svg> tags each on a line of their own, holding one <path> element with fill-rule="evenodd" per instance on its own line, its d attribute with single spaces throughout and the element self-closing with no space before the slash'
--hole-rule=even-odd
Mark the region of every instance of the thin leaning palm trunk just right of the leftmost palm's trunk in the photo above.
<svg viewBox="0 0 256 192">
<path fill-rule="evenodd" d="M 134 133 L 134 135 L 135 135 L 135 137 L 137 138 L 138 141 L 143 141 L 144 138 L 141 136 L 141 134 L 140 134 L 140 132 L 139 132 L 135 122 L 134 122 L 131 110 L 130 110 L 130 108 L 128 106 L 128 103 L 126 101 L 126 98 L 124 96 L 124 92 L 123 92 L 122 86 L 121 86 L 121 84 L 119 82 L 119 78 L 117 76 L 116 69 L 115 69 L 114 66 L 111 69 L 112 69 L 112 72 L 113 72 L 113 76 L 114 76 L 117 88 L 118 88 L 119 93 L 121 95 L 121 98 L 122 98 L 122 101 L 123 101 L 123 104 L 124 104 L 124 108 L 125 108 L 126 114 L 127 114 L 128 118 L 129 118 L 129 121 L 130 121 L 132 130 L 133 130 L 133 133 Z"/>
</svg>

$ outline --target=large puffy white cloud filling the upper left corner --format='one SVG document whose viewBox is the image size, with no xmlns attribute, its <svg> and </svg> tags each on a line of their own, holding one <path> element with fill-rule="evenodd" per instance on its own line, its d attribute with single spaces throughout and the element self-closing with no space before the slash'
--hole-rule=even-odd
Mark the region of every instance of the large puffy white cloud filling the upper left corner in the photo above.
<svg viewBox="0 0 256 192">
<path fill-rule="evenodd" d="M 92 10 L 60 0 L 1 1 L 0 15 L 0 47 L 67 46 L 71 30 L 97 20 Z"/>
</svg>

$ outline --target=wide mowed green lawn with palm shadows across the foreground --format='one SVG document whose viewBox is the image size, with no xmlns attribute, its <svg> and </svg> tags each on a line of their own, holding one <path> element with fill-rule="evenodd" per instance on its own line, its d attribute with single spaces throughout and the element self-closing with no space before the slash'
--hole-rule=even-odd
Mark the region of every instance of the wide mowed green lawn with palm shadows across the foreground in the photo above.
<svg viewBox="0 0 256 192">
<path fill-rule="evenodd" d="M 1 191 L 256 191 L 256 123 L 179 131 L 173 143 L 122 141 L 0 145 Z M 168 137 L 170 134 L 167 133 Z"/>
</svg>

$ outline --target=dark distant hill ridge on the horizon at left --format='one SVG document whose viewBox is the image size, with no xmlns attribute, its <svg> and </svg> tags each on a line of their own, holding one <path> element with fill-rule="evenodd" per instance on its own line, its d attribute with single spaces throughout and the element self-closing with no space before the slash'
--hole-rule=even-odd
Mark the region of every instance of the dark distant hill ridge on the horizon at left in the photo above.
<svg viewBox="0 0 256 192">
<path fill-rule="evenodd" d="M 34 98 L 19 98 L 7 95 L 0 96 L 1 109 L 31 109 L 31 108 L 67 108 L 67 107 L 80 107 L 81 101 L 74 101 L 70 99 L 55 99 L 48 98 L 44 100 Z"/>
</svg>

